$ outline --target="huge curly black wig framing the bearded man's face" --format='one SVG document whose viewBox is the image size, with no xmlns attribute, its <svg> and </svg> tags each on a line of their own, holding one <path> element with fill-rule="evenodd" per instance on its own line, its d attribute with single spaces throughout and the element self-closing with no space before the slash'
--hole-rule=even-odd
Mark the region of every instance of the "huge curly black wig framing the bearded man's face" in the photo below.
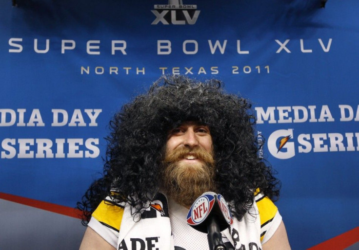
<svg viewBox="0 0 359 250">
<path fill-rule="evenodd" d="M 225 93 L 219 80 L 199 82 L 185 76 L 162 76 L 149 91 L 124 105 L 110 122 L 103 178 L 96 180 L 78 203 L 82 223 L 112 189 L 119 202 L 140 209 L 160 188 L 160 169 L 167 131 L 184 121 L 210 128 L 218 193 L 231 202 L 241 219 L 253 204 L 258 188 L 272 200 L 280 182 L 271 166 L 258 156 L 261 146 L 248 100 Z"/>
</svg>

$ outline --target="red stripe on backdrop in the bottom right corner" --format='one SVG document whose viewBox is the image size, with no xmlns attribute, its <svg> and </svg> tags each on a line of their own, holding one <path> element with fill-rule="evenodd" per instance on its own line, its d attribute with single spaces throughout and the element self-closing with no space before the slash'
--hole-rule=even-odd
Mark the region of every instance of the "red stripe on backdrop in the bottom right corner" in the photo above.
<svg viewBox="0 0 359 250">
<path fill-rule="evenodd" d="M 337 249 L 342 250 L 350 247 L 354 243 L 359 241 L 359 227 L 356 227 L 348 232 L 339 234 L 338 236 L 324 241 L 317 246 L 311 247 L 308 250 L 328 250 Z"/>
</svg>

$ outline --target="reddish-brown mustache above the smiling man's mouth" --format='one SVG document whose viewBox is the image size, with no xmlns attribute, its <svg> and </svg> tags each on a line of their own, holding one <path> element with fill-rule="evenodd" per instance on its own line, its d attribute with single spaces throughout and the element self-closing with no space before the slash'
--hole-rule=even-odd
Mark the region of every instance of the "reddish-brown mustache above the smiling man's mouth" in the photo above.
<svg viewBox="0 0 359 250">
<path fill-rule="evenodd" d="M 214 152 L 213 150 L 211 152 L 207 152 L 201 147 L 194 147 L 194 148 L 188 148 L 188 147 L 179 147 L 175 148 L 171 152 L 166 152 L 165 158 L 163 160 L 164 163 L 170 163 L 175 161 L 180 161 L 182 159 L 185 159 L 186 156 L 191 155 L 194 156 L 196 159 L 199 159 L 201 161 L 214 164 Z"/>
</svg>

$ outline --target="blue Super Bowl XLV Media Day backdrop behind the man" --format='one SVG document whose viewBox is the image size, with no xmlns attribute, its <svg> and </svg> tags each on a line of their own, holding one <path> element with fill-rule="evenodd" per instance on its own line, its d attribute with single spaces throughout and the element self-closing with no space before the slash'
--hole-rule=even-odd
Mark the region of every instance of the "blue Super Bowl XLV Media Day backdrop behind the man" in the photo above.
<svg viewBox="0 0 359 250">
<path fill-rule="evenodd" d="M 253 102 L 292 248 L 340 234 L 355 244 L 358 230 L 345 233 L 359 226 L 359 1 L 321 2 L 1 1 L 0 198 L 72 210 L 100 177 L 123 104 L 163 74 L 216 78 Z M 8 233 L 20 208 L 5 215 L 1 249 L 20 232 L 40 237 Z M 42 240 L 56 249 L 58 237 Z"/>
</svg>

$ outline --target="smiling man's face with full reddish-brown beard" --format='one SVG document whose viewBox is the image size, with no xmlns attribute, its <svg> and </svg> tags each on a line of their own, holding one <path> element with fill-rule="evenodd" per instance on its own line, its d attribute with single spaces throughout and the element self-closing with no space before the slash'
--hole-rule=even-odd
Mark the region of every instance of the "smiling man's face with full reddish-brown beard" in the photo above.
<svg viewBox="0 0 359 250">
<path fill-rule="evenodd" d="M 208 126 L 187 121 L 170 130 L 162 177 L 167 195 L 188 207 L 204 192 L 215 192 L 213 155 Z"/>
</svg>

